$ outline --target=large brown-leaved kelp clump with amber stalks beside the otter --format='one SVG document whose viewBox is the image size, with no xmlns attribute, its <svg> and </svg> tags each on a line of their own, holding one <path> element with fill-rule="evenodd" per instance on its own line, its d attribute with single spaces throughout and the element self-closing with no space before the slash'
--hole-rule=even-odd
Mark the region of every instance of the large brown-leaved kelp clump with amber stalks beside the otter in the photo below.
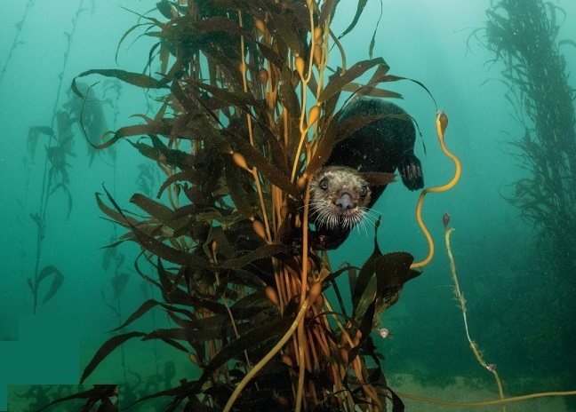
<svg viewBox="0 0 576 412">
<path fill-rule="evenodd" d="M 370 332 L 375 313 L 418 274 L 412 257 L 382 255 L 375 244 L 359 272 L 332 272 L 327 257 L 307 245 L 307 178 L 334 144 L 340 92 L 386 95 L 376 86 L 396 77 L 380 58 L 346 67 L 341 50 L 342 67 L 327 71 L 336 2 L 321 9 L 314 2 L 161 2 L 158 9 L 168 21 L 141 16 L 127 34 L 146 27 L 145 36 L 159 39 L 148 67 L 158 62 L 160 75 L 89 70 L 78 77 L 112 76 L 158 91 L 154 117 L 141 115 L 145 124 L 120 128 L 98 147 L 147 135 L 129 141 L 164 171 L 157 195 L 165 204 L 134 194 L 132 202 L 148 214 L 138 218 L 109 194 L 113 207 L 98 200 L 129 229 L 122 240 L 140 243 L 140 258 L 156 265 L 157 281 L 140 274 L 164 298 L 149 299 L 118 329 L 158 307 L 176 327 L 109 339 L 83 380 L 118 345 L 140 337 L 161 339 L 202 368 L 197 380 L 144 398 L 172 396 L 167 410 L 182 401 L 194 410 L 233 403 L 244 410 L 383 410 L 387 398 L 400 408 Z M 349 29 L 362 10 L 360 4 Z M 371 69 L 369 86 L 354 83 Z M 83 95 L 76 80 L 73 89 Z M 356 116 L 342 126 L 351 133 L 368 121 Z M 303 233 L 299 255 L 282 242 L 292 231 Z M 348 310 L 335 282 L 343 273 Z M 324 298 L 326 289 L 338 309 Z"/>
</svg>

